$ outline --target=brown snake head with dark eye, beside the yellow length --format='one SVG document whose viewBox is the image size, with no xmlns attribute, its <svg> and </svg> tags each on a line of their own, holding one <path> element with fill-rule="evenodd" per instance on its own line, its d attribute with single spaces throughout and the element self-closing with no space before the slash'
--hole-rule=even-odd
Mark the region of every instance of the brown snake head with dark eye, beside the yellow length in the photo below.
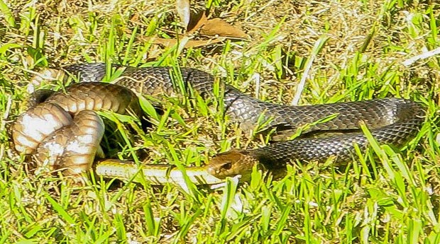
<svg viewBox="0 0 440 244">
<path fill-rule="evenodd" d="M 253 165 L 257 163 L 258 159 L 249 151 L 231 150 L 211 158 L 207 171 L 219 179 L 241 175 L 241 179 L 246 180 L 251 178 Z"/>
</svg>

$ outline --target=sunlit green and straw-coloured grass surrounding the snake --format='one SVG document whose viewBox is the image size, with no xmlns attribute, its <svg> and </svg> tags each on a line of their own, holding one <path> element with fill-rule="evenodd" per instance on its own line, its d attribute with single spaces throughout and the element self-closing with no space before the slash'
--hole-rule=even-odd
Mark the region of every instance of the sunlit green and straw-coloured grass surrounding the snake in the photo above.
<svg viewBox="0 0 440 244">
<path fill-rule="evenodd" d="M 402 65 L 439 47 L 436 1 L 209 1 L 251 39 L 197 48 L 151 38 L 182 30 L 174 4 L 0 1 L 0 243 L 440 242 L 440 57 Z M 402 151 L 373 145 L 342 168 L 294 163 L 281 180 L 255 169 L 251 182 L 218 190 L 101 179 L 75 188 L 28 173 L 6 128 L 26 110 L 33 72 L 97 61 L 192 66 L 273 103 L 295 94 L 300 105 L 410 98 L 426 105 L 427 121 Z M 117 124 L 119 156 L 142 151 L 148 163 L 200 165 L 265 144 L 200 100 L 163 103 L 147 132 L 132 136 Z"/>
</svg>

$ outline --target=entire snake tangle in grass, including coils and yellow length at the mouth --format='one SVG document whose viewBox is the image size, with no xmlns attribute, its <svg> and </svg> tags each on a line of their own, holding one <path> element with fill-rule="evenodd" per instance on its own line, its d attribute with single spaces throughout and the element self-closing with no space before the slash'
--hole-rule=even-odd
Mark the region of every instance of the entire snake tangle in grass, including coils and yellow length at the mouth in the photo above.
<svg viewBox="0 0 440 244">
<path fill-rule="evenodd" d="M 109 69 L 119 77 L 113 83 L 101 82 Z M 219 99 L 224 116 L 229 122 L 240 124 L 243 132 L 263 124 L 265 129 L 275 128 L 280 133 L 304 129 L 306 136 L 257 149 L 219 153 L 201 167 L 140 167 L 104 159 L 94 168 L 97 175 L 127 179 L 138 173 L 155 184 L 180 182 L 184 178 L 197 184 L 214 184 L 236 175 L 248 178 L 254 165 L 276 170 L 292 161 L 324 162 L 331 158 L 335 164 L 346 163 L 355 158 L 356 147 L 361 151 L 368 148 L 361 124 L 368 127 L 379 144 L 403 146 L 419 132 L 425 116 L 421 104 L 404 98 L 299 106 L 269 103 L 246 95 L 207 72 L 189 67 L 90 63 L 55 70 L 57 74 L 75 77 L 79 83 L 66 86 L 62 91 L 37 91 L 31 99 L 31 108 L 18 116 L 11 130 L 16 151 L 33 156 L 40 165 L 48 165 L 50 169 L 63 169 L 65 175 L 87 172 L 102 154 L 99 141 L 104 134 L 104 124 L 95 111 L 142 116 L 139 95 L 199 95 L 205 100 Z M 216 95 L 216 91 L 221 91 L 221 95 Z M 315 132 L 339 133 L 313 136 Z"/>
</svg>

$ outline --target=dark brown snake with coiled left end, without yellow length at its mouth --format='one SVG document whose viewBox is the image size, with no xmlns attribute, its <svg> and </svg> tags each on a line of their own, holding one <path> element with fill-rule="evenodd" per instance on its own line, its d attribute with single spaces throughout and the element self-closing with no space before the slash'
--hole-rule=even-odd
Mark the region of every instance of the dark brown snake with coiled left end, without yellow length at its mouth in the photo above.
<svg viewBox="0 0 440 244">
<path fill-rule="evenodd" d="M 102 123 L 99 116 L 87 111 L 111 110 L 141 115 L 136 94 L 170 96 L 182 92 L 188 95 L 196 91 L 202 98 L 214 97 L 216 79 L 197 69 L 180 68 L 180 72 L 175 72 L 170 67 L 119 67 L 123 71 L 116 79 L 116 84 L 99 82 L 106 74 L 105 64 L 77 64 L 62 69 L 70 74 L 79 74 L 82 83 L 67 86 L 65 92 L 39 95 L 38 103 L 44 103 L 18 117 L 12 132 L 17 151 L 34 154 L 38 161 L 44 161 L 50 154 L 55 159 L 46 163 L 58 165 L 57 167 L 62 165 L 72 173 L 81 173 L 90 167 L 90 158 L 78 158 L 75 154 L 75 133 L 87 130 L 90 132 L 89 141 L 98 141 L 98 144 L 103 133 L 102 129 L 97 129 L 101 128 L 99 125 Z M 182 82 L 177 82 L 179 80 Z M 224 91 L 225 114 L 232 122 L 239 122 L 244 131 L 253 129 L 262 120 L 267 122 L 268 128 L 295 131 L 325 117 L 336 116 L 327 122 L 310 126 L 307 132 L 347 133 L 324 138 L 300 138 L 258 149 L 220 153 L 211 158 L 207 166 L 207 171 L 217 178 L 248 175 L 255 163 L 274 169 L 289 161 L 322 162 L 330 157 L 334 157 L 336 163 L 350 161 L 353 158 L 354 144 L 358 144 L 361 150 L 368 146 L 368 140 L 359 129 L 361 123 L 365 123 L 379 144 L 402 146 L 417 134 L 424 122 L 424 109 L 411 100 L 383 98 L 349 103 L 287 106 L 267 103 L 243 94 L 227 84 L 219 84 Z M 82 110 L 86 112 L 81 112 Z M 73 120 L 71 115 L 75 115 Z M 35 117 L 53 129 L 42 126 L 37 129 L 38 132 L 29 132 L 30 128 L 35 128 L 26 123 L 35 122 Z M 53 132 L 60 128 L 63 132 Z M 44 139 L 45 137 L 48 138 Z M 55 143 L 60 140 L 62 143 Z M 61 149 L 62 146 L 64 148 Z M 71 150 L 67 150 L 69 146 Z M 92 154 L 99 151 L 96 146 L 86 146 L 82 150 Z"/>
</svg>

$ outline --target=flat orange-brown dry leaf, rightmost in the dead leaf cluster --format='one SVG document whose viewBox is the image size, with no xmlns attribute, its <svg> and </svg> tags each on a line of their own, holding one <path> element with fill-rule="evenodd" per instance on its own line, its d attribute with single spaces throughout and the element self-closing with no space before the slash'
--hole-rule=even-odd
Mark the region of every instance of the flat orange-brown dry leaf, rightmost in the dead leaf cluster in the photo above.
<svg viewBox="0 0 440 244">
<path fill-rule="evenodd" d="M 238 39 L 247 39 L 248 35 L 239 28 L 230 25 L 221 18 L 213 18 L 207 20 L 202 28 L 200 28 L 200 34 L 208 36 L 221 36 L 221 37 L 233 37 Z"/>
</svg>

